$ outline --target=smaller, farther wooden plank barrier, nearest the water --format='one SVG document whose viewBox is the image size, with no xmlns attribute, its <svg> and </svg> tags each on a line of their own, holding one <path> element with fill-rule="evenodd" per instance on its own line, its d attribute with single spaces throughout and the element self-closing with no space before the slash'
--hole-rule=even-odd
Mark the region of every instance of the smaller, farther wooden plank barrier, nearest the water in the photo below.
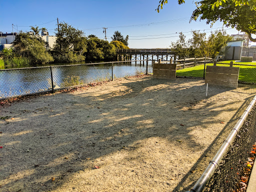
<svg viewBox="0 0 256 192">
<path fill-rule="evenodd" d="M 160 59 L 153 63 L 153 78 L 176 79 L 176 64 L 161 63 Z"/>
</svg>

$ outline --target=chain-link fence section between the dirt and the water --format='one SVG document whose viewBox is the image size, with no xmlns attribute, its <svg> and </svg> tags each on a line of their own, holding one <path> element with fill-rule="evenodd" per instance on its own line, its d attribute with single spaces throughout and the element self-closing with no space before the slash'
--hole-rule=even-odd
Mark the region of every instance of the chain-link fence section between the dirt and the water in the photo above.
<svg viewBox="0 0 256 192">
<path fill-rule="evenodd" d="M 151 61 L 0 69 L 0 99 L 152 72 Z"/>
</svg>

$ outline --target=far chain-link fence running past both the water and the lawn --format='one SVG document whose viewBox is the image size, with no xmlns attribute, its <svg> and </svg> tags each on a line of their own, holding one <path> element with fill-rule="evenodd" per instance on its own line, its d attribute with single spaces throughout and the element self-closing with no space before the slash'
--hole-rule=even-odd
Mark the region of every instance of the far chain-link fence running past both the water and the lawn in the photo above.
<svg viewBox="0 0 256 192">
<path fill-rule="evenodd" d="M 177 64 L 176 76 L 204 78 L 206 67 L 213 65 L 209 59 L 186 58 L 172 62 Z M 229 66 L 223 62 L 216 65 Z M 240 68 L 239 82 L 256 83 L 256 65 L 236 63 L 233 66 Z M 0 69 L 0 99 L 139 74 L 152 74 L 152 60 Z"/>
</svg>

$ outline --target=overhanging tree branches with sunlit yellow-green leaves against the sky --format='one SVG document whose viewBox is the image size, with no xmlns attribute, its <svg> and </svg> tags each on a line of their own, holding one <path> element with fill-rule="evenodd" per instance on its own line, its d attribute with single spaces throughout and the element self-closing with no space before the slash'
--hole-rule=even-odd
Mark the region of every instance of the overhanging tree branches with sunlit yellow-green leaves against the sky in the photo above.
<svg viewBox="0 0 256 192">
<path fill-rule="evenodd" d="M 178 0 L 178 3 L 184 3 Z M 157 7 L 167 0 L 160 0 Z M 226 27 L 231 26 L 248 34 L 251 41 L 256 42 L 251 34 L 256 34 L 256 1 L 255 0 L 200 0 L 196 1 L 196 9 L 192 12 L 190 20 L 206 19 L 207 24 L 213 24 L 217 20 L 223 22 Z"/>
</svg>

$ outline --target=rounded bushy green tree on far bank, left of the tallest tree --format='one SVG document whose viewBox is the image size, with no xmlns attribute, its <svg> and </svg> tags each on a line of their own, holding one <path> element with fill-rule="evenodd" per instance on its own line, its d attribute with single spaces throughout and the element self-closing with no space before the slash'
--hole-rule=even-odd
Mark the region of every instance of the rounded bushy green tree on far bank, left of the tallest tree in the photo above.
<svg viewBox="0 0 256 192">
<path fill-rule="evenodd" d="M 20 32 L 13 40 L 14 54 L 27 57 L 33 63 L 53 61 L 52 56 L 45 48 L 45 42 L 38 36 Z"/>
</svg>

